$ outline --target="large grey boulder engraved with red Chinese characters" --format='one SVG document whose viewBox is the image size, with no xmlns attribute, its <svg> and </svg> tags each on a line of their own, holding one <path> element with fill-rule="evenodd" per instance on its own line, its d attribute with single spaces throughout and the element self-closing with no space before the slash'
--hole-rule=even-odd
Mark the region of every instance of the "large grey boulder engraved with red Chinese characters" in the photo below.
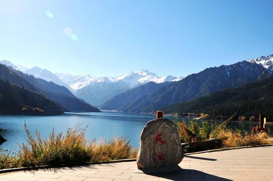
<svg viewBox="0 0 273 181">
<path fill-rule="evenodd" d="M 146 123 L 140 136 L 140 148 L 136 159 L 138 173 L 162 173 L 178 171 L 183 159 L 178 131 L 175 124 L 165 118 Z"/>
</svg>

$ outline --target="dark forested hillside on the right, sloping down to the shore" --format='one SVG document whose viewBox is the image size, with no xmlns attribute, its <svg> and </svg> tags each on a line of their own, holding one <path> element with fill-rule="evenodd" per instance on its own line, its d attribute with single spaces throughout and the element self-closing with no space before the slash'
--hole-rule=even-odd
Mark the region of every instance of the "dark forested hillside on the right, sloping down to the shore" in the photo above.
<svg viewBox="0 0 273 181">
<path fill-rule="evenodd" d="M 259 114 L 273 121 L 273 77 L 243 85 L 236 89 L 218 91 L 192 101 L 172 104 L 166 114 L 205 113 L 213 118 L 244 116 L 249 120 Z"/>
</svg>

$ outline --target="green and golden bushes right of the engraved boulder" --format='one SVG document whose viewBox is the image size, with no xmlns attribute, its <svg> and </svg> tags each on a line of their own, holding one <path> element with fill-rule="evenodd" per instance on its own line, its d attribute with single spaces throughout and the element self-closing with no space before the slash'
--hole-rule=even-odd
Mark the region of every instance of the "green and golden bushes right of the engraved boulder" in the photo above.
<svg viewBox="0 0 273 181">
<path fill-rule="evenodd" d="M 247 132 L 237 128 L 232 129 L 227 126 L 228 122 L 229 120 L 222 123 L 205 121 L 200 124 L 198 121 L 190 121 L 190 124 L 187 125 L 184 121 L 176 121 L 181 143 L 185 145 L 183 151 L 190 153 L 221 148 L 272 144 L 270 132 Z"/>
</svg>

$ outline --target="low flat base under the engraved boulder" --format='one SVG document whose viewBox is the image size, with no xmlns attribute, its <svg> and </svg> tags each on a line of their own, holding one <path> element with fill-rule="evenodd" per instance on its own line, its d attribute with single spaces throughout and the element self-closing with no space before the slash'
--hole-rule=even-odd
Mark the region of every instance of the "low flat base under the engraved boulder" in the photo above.
<svg viewBox="0 0 273 181">
<path fill-rule="evenodd" d="M 178 165 L 168 166 L 168 167 L 153 167 L 153 168 L 146 168 L 143 170 L 136 170 L 135 173 L 138 174 L 160 174 L 160 173 L 167 173 L 167 172 L 178 172 L 182 170 L 181 167 Z"/>
</svg>

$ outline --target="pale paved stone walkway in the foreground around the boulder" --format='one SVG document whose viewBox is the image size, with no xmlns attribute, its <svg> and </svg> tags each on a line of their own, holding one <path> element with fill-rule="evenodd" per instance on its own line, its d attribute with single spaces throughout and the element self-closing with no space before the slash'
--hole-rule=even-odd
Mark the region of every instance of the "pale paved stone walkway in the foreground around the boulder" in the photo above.
<svg viewBox="0 0 273 181">
<path fill-rule="evenodd" d="M 0 174 L 0 181 L 273 181 L 273 146 L 193 154 L 177 173 L 136 174 L 136 162 Z"/>
</svg>

